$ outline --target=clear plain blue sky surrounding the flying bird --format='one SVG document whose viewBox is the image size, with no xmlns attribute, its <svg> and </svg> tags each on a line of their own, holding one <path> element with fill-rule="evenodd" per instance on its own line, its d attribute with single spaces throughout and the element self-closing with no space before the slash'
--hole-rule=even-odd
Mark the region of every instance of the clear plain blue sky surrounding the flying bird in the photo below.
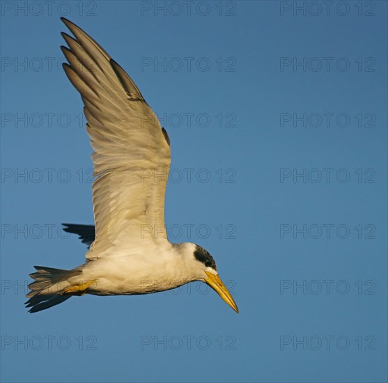
<svg viewBox="0 0 388 383">
<path fill-rule="evenodd" d="M 1 2 L 2 382 L 387 381 L 387 2 L 327 3 Z M 33 265 L 84 263 L 61 222 L 93 223 L 60 16 L 160 116 L 170 240 L 239 315 L 201 283 L 24 308 Z"/>
</svg>

